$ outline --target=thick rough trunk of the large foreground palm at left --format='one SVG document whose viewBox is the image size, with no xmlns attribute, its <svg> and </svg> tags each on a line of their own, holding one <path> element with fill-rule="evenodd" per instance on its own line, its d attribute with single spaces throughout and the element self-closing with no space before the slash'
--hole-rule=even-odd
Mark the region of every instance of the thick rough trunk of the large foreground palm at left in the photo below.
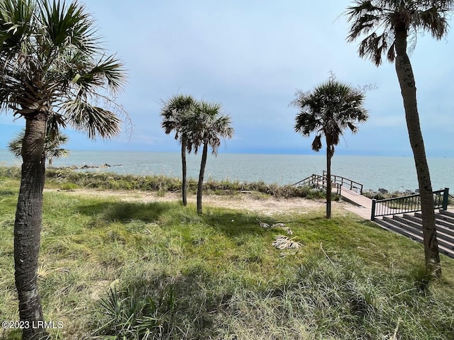
<svg viewBox="0 0 454 340">
<path fill-rule="evenodd" d="M 36 113 L 26 119 L 26 134 L 22 147 L 21 188 L 14 222 L 14 265 L 19 316 L 28 328 L 24 340 L 40 339 L 45 334 L 43 310 L 38 294 L 38 253 L 43 215 L 45 180 L 44 138 L 46 115 Z"/>
</svg>

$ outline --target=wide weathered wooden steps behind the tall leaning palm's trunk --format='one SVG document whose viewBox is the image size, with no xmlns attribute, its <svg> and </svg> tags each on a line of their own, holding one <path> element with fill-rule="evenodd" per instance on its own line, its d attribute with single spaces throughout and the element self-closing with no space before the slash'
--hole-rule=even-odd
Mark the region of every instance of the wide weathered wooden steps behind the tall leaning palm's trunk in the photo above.
<svg viewBox="0 0 454 340">
<path fill-rule="evenodd" d="M 438 249 L 454 259 L 454 212 L 438 210 L 435 214 Z M 375 218 L 377 225 L 423 243 L 421 212 Z"/>
</svg>

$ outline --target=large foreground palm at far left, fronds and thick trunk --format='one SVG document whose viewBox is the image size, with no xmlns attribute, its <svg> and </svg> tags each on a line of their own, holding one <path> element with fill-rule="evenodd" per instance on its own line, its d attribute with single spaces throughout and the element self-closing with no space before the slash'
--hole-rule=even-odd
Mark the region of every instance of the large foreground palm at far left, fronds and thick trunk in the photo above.
<svg viewBox="0 0 454 340">
<path fill-rule="evenodd" d="M 70 125 L 92 139 L 118 135 L 114 111 L 124 111 L 106 94 L 121 90 L 125 70 L 100 48 L 94 21 L 77 1 L 0 0 L 0 27 L 0 109 L 26 122 L 14 222 L 19 317 L 37 325 L 43 320 L 37 271 L 47 127 Z M 109 109 L 92 104 L 103 101 Z M 23 329 L 27 340 L 44 334 L 43 327 Z"/>
</svg>

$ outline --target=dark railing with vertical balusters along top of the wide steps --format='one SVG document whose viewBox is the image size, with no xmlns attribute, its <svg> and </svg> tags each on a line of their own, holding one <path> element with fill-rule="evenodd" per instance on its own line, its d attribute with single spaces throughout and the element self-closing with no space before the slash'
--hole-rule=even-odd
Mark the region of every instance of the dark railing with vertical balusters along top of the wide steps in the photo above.
<svg viewBox="0 0 454 340">
<path fill-rule="evenodd" d="M 449 188 L 433 191 L 433 209 L 448 209 Z M 421 198 L 416 195 L 388 198 L 386 200 L 372 200 L 370 220 L 378 216 L 404 214 L 406 212 L 421 211 Z"/>
</svg>

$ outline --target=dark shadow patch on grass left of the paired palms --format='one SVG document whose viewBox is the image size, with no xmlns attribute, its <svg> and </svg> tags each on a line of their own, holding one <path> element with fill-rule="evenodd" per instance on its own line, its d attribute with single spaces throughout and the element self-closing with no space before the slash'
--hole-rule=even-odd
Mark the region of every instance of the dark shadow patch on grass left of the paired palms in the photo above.
<svg viewBox="0 0 454 340">
<path fill-rule="evenodd" d="M 105 222 L 131 222 L 140 220 L 145 223 L 155 222 L 167 210 L 170 203 L 134 203 L 134 202 L 99 202 L 80 205 L 77 209 L 84 215 L 98 217 Z"/>
</svg>

